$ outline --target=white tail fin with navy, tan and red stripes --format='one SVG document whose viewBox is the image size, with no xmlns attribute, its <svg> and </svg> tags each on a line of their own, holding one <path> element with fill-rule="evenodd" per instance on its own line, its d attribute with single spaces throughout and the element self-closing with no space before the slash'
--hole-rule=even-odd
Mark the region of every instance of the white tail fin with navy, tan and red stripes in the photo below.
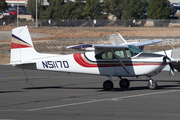
<svg viewBox="0 0 180 120">
<path fill-rule="evenodd" d="M 32 62 L 32 56 L 37 55 L 27 26 L 12 30 L 11 64 Z"/>
</svg>

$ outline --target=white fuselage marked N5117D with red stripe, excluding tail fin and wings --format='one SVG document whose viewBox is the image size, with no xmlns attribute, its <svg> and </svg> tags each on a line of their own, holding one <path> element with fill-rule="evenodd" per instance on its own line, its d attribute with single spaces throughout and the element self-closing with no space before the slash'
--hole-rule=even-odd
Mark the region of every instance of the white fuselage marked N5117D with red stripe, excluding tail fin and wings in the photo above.
<svg viewBox="0 0 180 120">
<path fill-rule="evenodd" d="M 63 71 L 73 73 L 97 74 L 107 76 L 152 76 L 164 67 L 163 55 L 140 53 L 134 57 L 123 57 L 120 60 L 130 73 L 127 73 L 116 58 L 98 58 L 98 52 L 84 52 L 63 56 L 54 56 L 36 60 L 38 70 Z"/>
</svg>

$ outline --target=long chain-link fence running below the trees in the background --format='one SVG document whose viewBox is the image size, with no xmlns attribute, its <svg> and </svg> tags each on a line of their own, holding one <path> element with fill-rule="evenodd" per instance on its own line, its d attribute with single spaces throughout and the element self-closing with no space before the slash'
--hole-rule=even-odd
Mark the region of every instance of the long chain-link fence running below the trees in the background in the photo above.
<svg viewBox="0 0 180 120">
<path fill-rule="evenodd" d="M 36 26 L 32 20 L 20 19 L 19 26 Z M 0 19 L 0 25 L 16 26 L 17 20 Z M 180 27 L 180 20 L 109 20 L 109 19 L 75 19 L 75 20 L 38 20 L 39 27 Z"/>
</svg>

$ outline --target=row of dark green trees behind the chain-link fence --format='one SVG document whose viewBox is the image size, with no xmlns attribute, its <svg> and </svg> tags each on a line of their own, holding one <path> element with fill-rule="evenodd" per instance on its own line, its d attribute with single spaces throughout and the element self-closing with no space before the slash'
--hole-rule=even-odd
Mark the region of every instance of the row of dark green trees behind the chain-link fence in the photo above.
<svg viewBox="0 0 180 120">
<path fill-rule="evenodd" d="M 173 14 L 168 0 L 38 0 L 39 19 L 107 19 L 111 14 L 117 19 L 169 19 Z M 84 2 L 86 1 L 86 2 Z M 7 7 L 0 1 L 0 12 Z M 27 11 L 36 18 L 36 0 L 28 0 Z"/>
</svg>

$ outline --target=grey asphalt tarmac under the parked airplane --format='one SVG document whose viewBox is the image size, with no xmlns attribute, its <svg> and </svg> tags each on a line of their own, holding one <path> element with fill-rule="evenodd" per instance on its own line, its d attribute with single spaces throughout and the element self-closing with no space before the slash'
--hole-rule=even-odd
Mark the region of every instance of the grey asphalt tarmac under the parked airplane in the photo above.
<svg viewBox="0 0 180 120">
<path fill-rule="evenodd" d="M 130 89 L 104 91 L 107 77 L 0 66 L 0 120 L 179 120 L 180 73 L 162 72 L 149 90 L 145 77 Z M 34 86 L 34 87 L 33 87 Z"/>
</svg>

